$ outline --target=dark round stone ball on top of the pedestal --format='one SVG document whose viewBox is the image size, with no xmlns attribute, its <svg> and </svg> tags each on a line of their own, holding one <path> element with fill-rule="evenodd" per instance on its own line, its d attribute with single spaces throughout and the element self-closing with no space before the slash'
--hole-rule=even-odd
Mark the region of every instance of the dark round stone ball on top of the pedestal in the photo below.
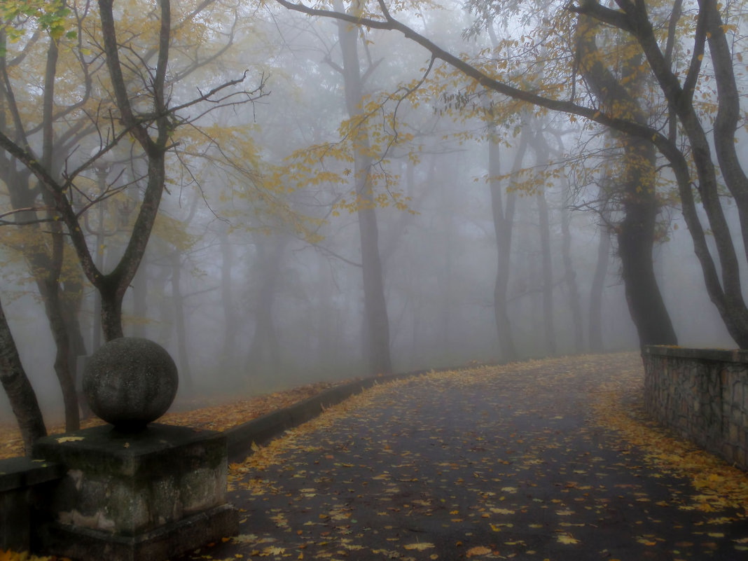
<svg viewBox="0 0 748 561">
<path fill-rule="evenodd" d="M 177 365 L 162 346 L 122 337 L 89 358 L 83 393 L 91 411 L 121 432 L 137 432 L 165 414 L 177 395 Z"/>
</svg>

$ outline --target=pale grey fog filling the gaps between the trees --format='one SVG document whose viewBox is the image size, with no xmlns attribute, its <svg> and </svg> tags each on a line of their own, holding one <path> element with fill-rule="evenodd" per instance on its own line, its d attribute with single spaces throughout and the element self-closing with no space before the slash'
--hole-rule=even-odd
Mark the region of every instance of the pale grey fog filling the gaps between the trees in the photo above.
<svg viewBox="0 0 748 561">
<path fill-rule="evenodd" d="M 471 17 L 465 10 L 406 17 L 455 52 L 476 53 L 490 44 L 488 37 L 462 38 Z M 229 61 L 218 61 L 203 73 L 228 76 L 235 67 L 248 67 L 251 79 L 265 76 L 268 94 L 197 122 L 210 128 L 225 150 L 236 149 L 238 158 L 246 158 L 252 172 L 221 168 L 217 159 L 188 163 L 186 172 L 180 167 L 183 159 L 171 160 L 161 218 L 123 303 L 125 334 L 148 337 L 174 357 L 180 370 L 178 399 L 183 400 L 231 399 L 375 374 L 367 358 L 371 324 L 365 312 L 358 212 L 367 203 L 348 206 L 355 199 L 356 133 L 355 127 L 341 128 L 349 119 L 341 73 L 344 31 L 335 22 L 275 7 L 257 12 L 253 21 L 226 55 Z M 358 58 L 366 73 L 367 102 L 423 77 L 429 55 L 419 46 L 375 30 L 364 37 Z M 372 146 L 386 149 L 372 156 L 371 169 L 378 177 L 374 212 L 392 369 L 507 361 L 494 310 L 498 257 L 491 180 L 501 183 L 504 208 L 513 197 L 506 311 L 516 358 L 638 349 L 615 235 L 605 252 L 609 263 L 598 329 L 602 348 L 590 340 L 598 247 L 601 234 L 615 229 L 620 209 L 595 203 L 603 178 L 595 174 L 599 164 L 594 162 L 605 156 L 589 156 L 584 178 L 577 163 L 563 162 L 585 150 L 602 150 L 601 133 L 554 114 L 516 115 L 499 126 L 501 141 L 492 156 L 497 176 L 489 168 L 488 125 L 474 108 L 487 99 L 501 100 L 476 96 L 462 109 L 450 107 L 450 93 L 466 83 L 441 90 L 424 85 L 397 105 L 396 122 L 396 104 L 387 102 L 372 110 L 367 124 Z M 191 93 L 175 87 L 172 104 Z M 548 159 L 529 147 L 516 165 L 522 126 L 539 135 L 547 132 Z M 386 138 L 396 132 L 400 138 L 387 147 L 377 131 Z M 93 137 L 82 142 L 82 151 L 90 152 L 89 145 L 96 146 Z M 311 155 L 304 159 L 297 151 Z M 126 183 L 137 165 L 112 160 L 107 182 Z M 512 175 L 517 167 L 526 171 Z M 85 176 L 93 186 L 96 174 Z M 1 203 L 7 206 L 5 191 Z M 128 192 L 137 200 L 137 186 Z M 735 224 L 734 209 L 729 203 L 726 208 Z M 96 208 L 88 212 L 90 247 L 102 242 L 106 271 L 117 263 L 129 232 L 114 228 L 97 242 Z M 105 212 L 114 210 L 109 206 Z M 734 347 L 708 298 L 677 203 L 663 203 L 658 223 L 655 273 L 678 343 Z M 62 399 L 52 370 L 55 346 L 44 304 L 19 258 L 16 237 L 11 239 L 18 234 L 10 230 L 17 227 L 2 228 L 5 313 L 47 420 L 60 420 Z M 96 293 L 88 283 L 83 290 L 79 322 L 90 353 Z M 0 420 L 12 420 L 4 394 L 0 411 Z"/>
</svg>

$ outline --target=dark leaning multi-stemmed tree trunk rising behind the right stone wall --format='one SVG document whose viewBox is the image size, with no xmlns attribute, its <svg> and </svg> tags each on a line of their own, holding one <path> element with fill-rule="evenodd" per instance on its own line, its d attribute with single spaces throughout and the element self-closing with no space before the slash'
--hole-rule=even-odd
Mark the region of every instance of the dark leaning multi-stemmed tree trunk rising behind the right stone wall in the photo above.
<svg viewBox="0 0 748 561">
<path fill-rule="evenodd" d="M 598 22 L 610 24 L 608 12 L 595 2 L 586 2 L 578 10 L 580 14 L 598 19 Z M 680 11 L 674 13 L 678 16 Z M 588 16 L 580 15 L 579 28 L 591 29 L 592 23 Z M 635 25 L 628 25 L 636 22 Z M 699 2 L 699 12 L 696 17 L 696 30 L 693 40 L 693 58 L 686 76 L 677 76 L 670 62 L 669 55 L 660 50 L 660 42 L 654 34 L 654 28 L 649 23 L 647 7 L 644 3 L 628 3 L 625 16 L 616 21 L 616 25 L 623 25 L 634 35 L 639 46 L 646 55 L 647 64 L 659 83 L 660 90 L 666 96 L 670 110 L 675 113 L 681 123 L 681 130 L 688 139 L 691 165 L 687 162 L 684 152 L 676 144 L 675 126 L 671 126 L 671 138 L 665 138 L 656 131 L 652 135 L 641 135 L 644 141 L 653 141 L 657 148 L 669 161 L 678 181 L 678 191 L 684 221 L 693 239 L 694 251 L 702 266 L 707 292 L 711 301 L 717 307 L 729 334 L 742 349 L 748 349 L 748 307 L 743 298 L 740 279 L 740 265 L 738 263 L 735 245 L 732 243 L 732 233 L 727 224 L 722 203 L 720 201 L 720 182 L 718 172 L 712 159 L 712 148 L 702 120 L 694 105 L 693 93 L 696 80 L 699 79 L 702 58 L 705 54 L 705 43 L 709 43 L 709 55 L 714 67 L 714 79 L 717 84 L 717 117 L 714 120 L 714 147 L 720 162 L 720 174 L 725 185 L 735 197 L 738 212 L 741 217 L 741 234 L 744 242 L 748 241 L 748 179 L 735 153 L 735 127 L 739 118 L 738 89 L 735 83 L 732 52 L 726 43 L 725 28 L 720 16 L 720 8 L 714 0 Z M 588 40 L 593 44 L 594 40 Z M 638 72 L 638 70 L 637 70 Z M 595 72 L 596 76 L 601 73 Z M 636 118 L 637 123 L 646 120 Z M 649 131 L 648 131 L 649 132 Z M 698 182 L 692 179 L 691 169 L 695 169 Z M 718 264 L 711 256 L 706 233 L 699 221 L 696 204 L 693 197 L 693 186 L 699 191 L 702 208 L 708 218 L 714 245 L 719 257 Z M 748 243 L 744 243 L 748 251 Z M 717 272 L 717 266 L 720 272 Z"/>
</svg>

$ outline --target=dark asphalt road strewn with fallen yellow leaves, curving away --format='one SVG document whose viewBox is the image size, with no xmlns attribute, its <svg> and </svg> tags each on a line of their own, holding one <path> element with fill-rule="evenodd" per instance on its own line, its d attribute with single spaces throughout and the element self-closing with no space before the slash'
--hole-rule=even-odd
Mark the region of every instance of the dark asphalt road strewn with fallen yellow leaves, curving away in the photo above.
<svg viewBox="0 0 748 561">
<path fill-rule="evenodd" d="M 639 361 L 368 390 L 234 465 L 240 535 L 185 559 L 748 560 L 745 509 L 700 509 L 690 480 L 660 473 L 593 407 L 622 372 L 635 387 Z M 635 396 L 620 396 L 631 411 Z"/>
</svg>

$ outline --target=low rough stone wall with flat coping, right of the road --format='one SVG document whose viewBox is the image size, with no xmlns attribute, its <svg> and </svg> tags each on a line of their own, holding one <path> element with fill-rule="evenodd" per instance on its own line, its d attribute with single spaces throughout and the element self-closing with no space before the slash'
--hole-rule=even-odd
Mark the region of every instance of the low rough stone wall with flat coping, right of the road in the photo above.
<svg viewBox="0 0 748 561">
<path fill-rule="evenodd" d="M 748 351 L 646 346 L 642 358 L 649 414 L 748 470 Z"/>
</svg>

